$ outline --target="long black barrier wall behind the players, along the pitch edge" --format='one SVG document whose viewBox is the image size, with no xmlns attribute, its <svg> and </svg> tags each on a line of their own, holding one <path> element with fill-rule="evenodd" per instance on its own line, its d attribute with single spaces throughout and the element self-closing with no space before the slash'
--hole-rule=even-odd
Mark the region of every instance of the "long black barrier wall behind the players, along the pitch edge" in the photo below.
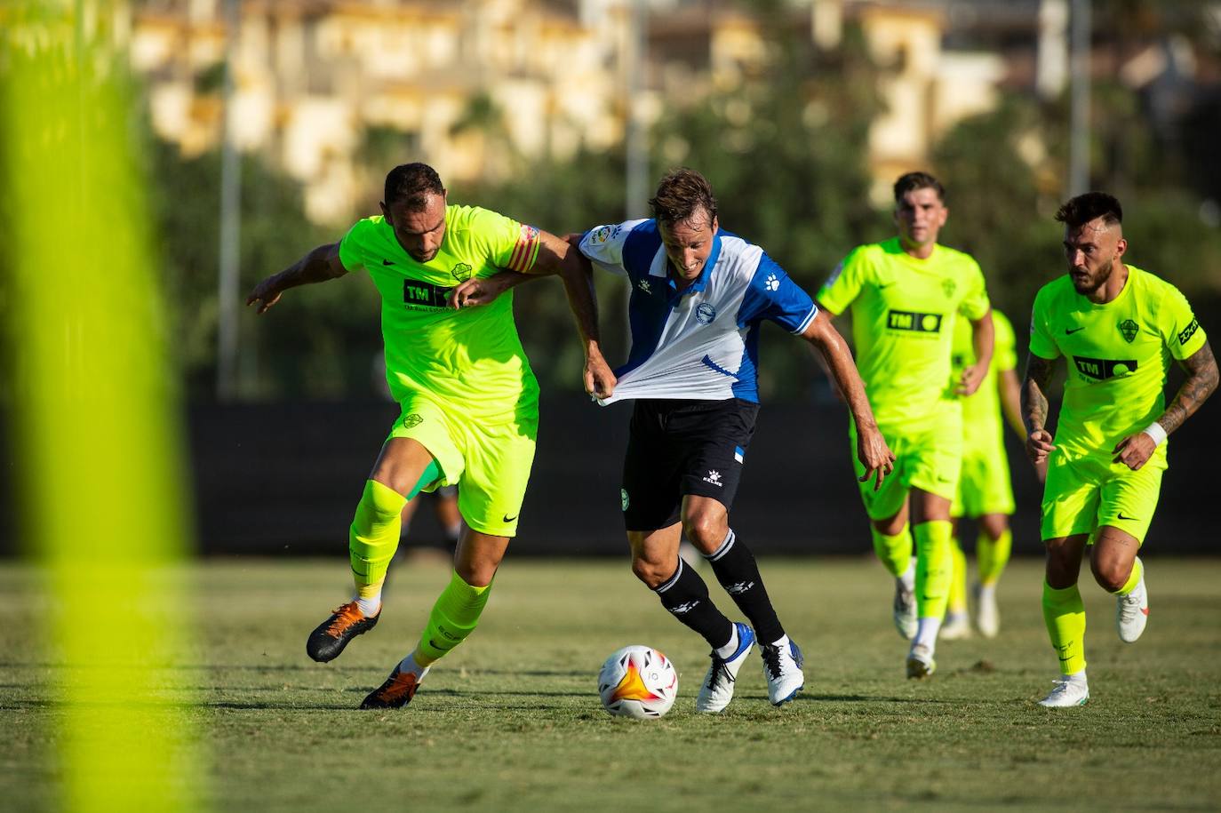
<svg viewBox="0 0 1221 813">
<path fill-rule="evenodd" d="M 512 552 L 625 555 L 619 474 L 631 405 L 600 408 L 571 396 L 545 400 L 541 411 L 534 476 Z M 1170 471 L 1149 531 L 1151 553 L 1217 552 L 1217 533 L 1205 525 L 1217 494 L 1221 425 L 1214 411 L 1206 405 L 1171 441 Z M 381 402 L 193 406 L 188 427 L 200 549 L 343 555 L 352 511 L 397 414 Z M 839 404 L 763 406 L 733 509 L 734 529 L 753 549 L 871 549 L 846 427 Z M 1040 490 L 1012 433 L 1009 446 L 1018 504 L 1015 551 L 1040 554 Z M 11 487 L 16 464 L 11 454 L 4 460 L 0 548 L 11 553 L 18 533 Z M 425 540 L 429 514 L 425 508 L 416 515 L 418 536 Z"/>
</svg>

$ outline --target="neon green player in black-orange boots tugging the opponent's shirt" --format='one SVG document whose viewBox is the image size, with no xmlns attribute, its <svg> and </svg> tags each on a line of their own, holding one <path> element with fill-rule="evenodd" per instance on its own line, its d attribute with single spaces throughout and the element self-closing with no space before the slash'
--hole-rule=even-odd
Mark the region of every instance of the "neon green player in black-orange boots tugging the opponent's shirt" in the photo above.
<svg viewBox="0 0 1221 813">
<path fill-rule="evenodd" d="M 355 597 L 309 636 L 314 660 L 331 660 L 381 616 L 386 570 L 399 515 L 421 490 L 458 485 L 466 522 L 454 573 L 419 645 L 361 708 L 410 702 L 429 668 L 475 629 L 492 577 L 518 526 L 534 461 L 538 385 L 513 321 L 513 298 L 457 309 L 453 291 L 509 269 L 562 273 L 585 344 L 586 389 L 607 394 L 614 376 L 602 360 L 592 291 L 565 240 L 485 209 L 448 205 L 432 167 L 408 164 L 386 176 L 380 217 L 355 223 L 250 293 L 263 314 L 288 288 L 364 267 L 382 300 L 389 389 L 402 406 L 365 481 L 349 531 Z"/>
</svg>

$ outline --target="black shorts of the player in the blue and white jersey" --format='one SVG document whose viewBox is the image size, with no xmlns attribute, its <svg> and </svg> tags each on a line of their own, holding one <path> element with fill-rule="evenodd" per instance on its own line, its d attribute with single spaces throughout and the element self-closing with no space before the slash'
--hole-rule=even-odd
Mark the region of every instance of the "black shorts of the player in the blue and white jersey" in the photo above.
<svg viewBox="0 0 1221 813">
<path fill-rule="evenodd" d="M 637 400 L 623 461 L 623 518 L 629 531 L 679 521 L 683 497 L 712 497 L 728 510 L 759 405 L 728 400 Z"/>
</svg>

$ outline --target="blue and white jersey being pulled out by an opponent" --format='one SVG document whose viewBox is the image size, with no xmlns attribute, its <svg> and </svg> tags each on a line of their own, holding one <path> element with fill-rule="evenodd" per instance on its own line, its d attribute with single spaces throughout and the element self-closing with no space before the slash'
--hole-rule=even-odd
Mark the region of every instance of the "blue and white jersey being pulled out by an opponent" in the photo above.
<svg viewBox="0 0 1221 813">
<path fill-rule="evenodd" d="M 818 313 L 813 299 L 757 245 L 726 231 L 713 236 L 700 277 L 679 291 L 653 220 L 591 228 L 581 254 L 631 283 L 631 352 L 615 370 L 614 394 L 758 402 L 758 330 L 770 320 L 801 333 Z"/>
</svg>

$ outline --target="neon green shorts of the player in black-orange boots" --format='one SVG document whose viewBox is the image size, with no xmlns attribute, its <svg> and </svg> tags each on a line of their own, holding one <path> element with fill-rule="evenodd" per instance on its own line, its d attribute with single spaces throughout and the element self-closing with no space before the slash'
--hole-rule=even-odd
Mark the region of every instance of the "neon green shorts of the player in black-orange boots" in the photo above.
<svg viewBox="0 0 1221 813">
<path fill-rule="evenodd" d="M 408 396 L 389 437 L 419 441 L 441 469 L 427 486 L 458 486 L 458 510 L 474 530 L 514 536 L 534 465 L 537 414 L 532 421 L 477 424 L 460 420 L 422 394 Z M 388 439 L 388 438 L 387 438 Z"/>
</svg>

